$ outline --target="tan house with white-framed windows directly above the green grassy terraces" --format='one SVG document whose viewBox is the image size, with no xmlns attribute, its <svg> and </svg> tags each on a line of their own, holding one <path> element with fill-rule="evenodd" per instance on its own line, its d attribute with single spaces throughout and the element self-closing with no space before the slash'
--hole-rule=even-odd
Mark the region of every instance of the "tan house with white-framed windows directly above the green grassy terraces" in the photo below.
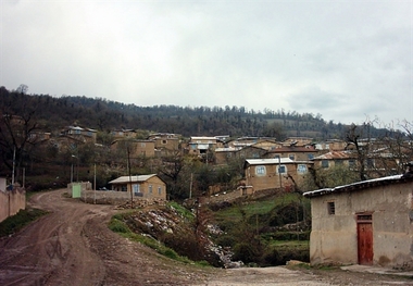
<svg viewBox="0 0 413 286">
<path fill-rule="evenodd" d="M 247 159 L 243 164 L 247 186 L 253 191 L 264 189 L 293 190 L 308 173 L 309 161 L 292 161 L 289 158 Z"/>
</svg>

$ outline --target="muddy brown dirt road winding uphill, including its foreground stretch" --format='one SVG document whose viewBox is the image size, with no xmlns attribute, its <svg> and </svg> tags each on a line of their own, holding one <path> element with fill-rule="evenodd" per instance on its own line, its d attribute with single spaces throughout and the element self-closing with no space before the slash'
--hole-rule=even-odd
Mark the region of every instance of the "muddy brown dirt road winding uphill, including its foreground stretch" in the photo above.
<svg viewBox="0 0 413 286">
<path fill-rule="evenodd" d="M 34 196 L 29 203 L 50 214 L 0 240 L 0 285 L 409 285 L 374 274 L 178 263 L 112 233 L 107 227 L 112 206 L 86 204 L 64 198 L 64 191 Z"/>
</svg>

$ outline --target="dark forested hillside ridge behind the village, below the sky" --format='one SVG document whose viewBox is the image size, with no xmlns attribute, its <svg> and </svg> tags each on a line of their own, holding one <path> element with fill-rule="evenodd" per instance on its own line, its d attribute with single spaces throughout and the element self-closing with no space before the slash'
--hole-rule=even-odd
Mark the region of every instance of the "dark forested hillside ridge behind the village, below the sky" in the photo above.
<svg viewBox="0 0 413 286">
<path fill-rule="evenodd" d="M 36 120 L 38 127 L 54 132 L 79 125 L 107 132 L 114 128 L 148 129 L 183 136 L 306 136 L 314 139 L 343 138 L 346 126 L 326 122 L 322 114 L 297 113 L 283 109 L 253 111 L 248 107 L 139 107 L 87 97 L 25 95 L 0 88 L 0 112 Z M 276 108 L 276 107 L 275 107 Z M 371 128 L 371 136 L 384 129 Z"/>
</svg>

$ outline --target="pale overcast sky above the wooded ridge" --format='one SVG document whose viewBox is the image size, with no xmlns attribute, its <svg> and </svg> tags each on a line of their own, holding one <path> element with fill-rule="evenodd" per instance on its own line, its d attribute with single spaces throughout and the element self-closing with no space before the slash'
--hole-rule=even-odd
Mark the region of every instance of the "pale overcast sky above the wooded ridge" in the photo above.
<svg viewBox="0 0 413 286">
<path fill-rule="evenodd" d="M 413 1 L 1 2 L 0 85 L 413 122 Z"/>
</svg>

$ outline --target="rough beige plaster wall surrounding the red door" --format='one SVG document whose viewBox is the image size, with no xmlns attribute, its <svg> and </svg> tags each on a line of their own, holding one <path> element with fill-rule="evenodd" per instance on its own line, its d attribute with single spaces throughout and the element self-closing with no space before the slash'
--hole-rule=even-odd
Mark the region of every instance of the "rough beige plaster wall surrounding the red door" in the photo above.
<svg viewBox="0 0 413 286">
<path fill-rule="evenodd" d="M 356 214 L 371 212 L 373 264 L 413 269 L 413 182 L 314 197 L 311 209 L 312 264 L 359 263 Z"/>
</svg>

